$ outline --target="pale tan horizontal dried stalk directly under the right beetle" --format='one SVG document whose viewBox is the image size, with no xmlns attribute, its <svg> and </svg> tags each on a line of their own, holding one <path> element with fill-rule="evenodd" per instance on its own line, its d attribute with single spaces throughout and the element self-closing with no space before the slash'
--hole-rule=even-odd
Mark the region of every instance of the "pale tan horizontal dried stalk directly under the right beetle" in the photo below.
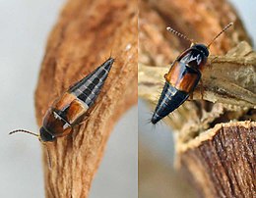
<svg viewBox="0 0 256 198">
<path fill-rule="evenodd" d="M 168 70 L 166 67 L 140 65 L 139 95 L 156 102 L 164 82 L 163 75 Z M 202 81 L 203 95 L 202 84 L 199 84 L 193 93 L 194 100 L 256 108 L 256 53 L 248 43 L 241 42 L 224 56 L 210 56 Z"/>
</svg>

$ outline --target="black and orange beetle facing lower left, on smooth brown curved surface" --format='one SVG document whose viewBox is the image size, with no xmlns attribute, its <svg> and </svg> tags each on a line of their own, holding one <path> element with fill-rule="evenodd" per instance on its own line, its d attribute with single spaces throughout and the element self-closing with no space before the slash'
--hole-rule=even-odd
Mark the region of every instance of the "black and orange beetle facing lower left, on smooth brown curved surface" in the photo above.
<svg viewBox="0 0 256 198">
<path fill-rule="evenodd" d="M 30 133 L 42 143 L 52 142 L 57 137 L 69 134 L 76 124 L 81 124 L 88 116 L 113 62 L 114 59 L 107 59 L 93 73 L 75 83 L 58 98 L 46 112 L 39 134 L 24 129 L 13 130 L 9 134 Z"/>
</svg>

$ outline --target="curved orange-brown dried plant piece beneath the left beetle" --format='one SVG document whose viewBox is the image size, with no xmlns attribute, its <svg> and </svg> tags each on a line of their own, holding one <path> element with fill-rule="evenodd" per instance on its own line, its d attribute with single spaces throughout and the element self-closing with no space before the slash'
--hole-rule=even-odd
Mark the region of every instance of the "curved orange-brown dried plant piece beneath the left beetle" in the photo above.
<svg viewBox="0 0 256 198">
<path fill-rule="evenodd" d="M 70 85 L 115 58 L 96 108 L 72 134 L 43 148 L 46 197 L 88 197 L 113 125 L 137 103 L 137 2 L 70 0 L 51 31 L 35 91 L 38 125 Z"/>
</svg>

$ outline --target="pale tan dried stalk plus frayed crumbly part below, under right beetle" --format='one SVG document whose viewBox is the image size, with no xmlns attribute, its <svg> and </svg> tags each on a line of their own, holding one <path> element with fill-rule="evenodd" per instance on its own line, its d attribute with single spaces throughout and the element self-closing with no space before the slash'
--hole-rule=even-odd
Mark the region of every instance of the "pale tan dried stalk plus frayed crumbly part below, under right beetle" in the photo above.
<svg viewBox="0 0 256 198">
<path fill-rule="evenodd" d="M 163 81 L 160 80 L 164 80 L 163 75 L 167 72 L 165 67 L 140 65 L 139 95 L 155 104 L 162 89 Z M 216 104 L 206 104 L 210 108 L 206 110 L 200 109 L 203 107 L 200 103 L 187 101 L 167 119 L 179 130 L 184 141 L 208 129 L 226 111 L 229 115 L 233 112 L 230 119 L 239 120 L 250 108 L 256 109 L 256 53 L 246 42 L 241 42 L 224 56 L 210 56 L 202 81 L 193 92 L 193 100 L 203 99 Z"/>
</svg>

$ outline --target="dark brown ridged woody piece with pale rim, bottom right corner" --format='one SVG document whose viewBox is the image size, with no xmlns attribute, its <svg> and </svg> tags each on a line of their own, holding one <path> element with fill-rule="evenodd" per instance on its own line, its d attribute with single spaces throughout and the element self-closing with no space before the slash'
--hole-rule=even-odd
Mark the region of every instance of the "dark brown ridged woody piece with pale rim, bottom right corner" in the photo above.
<svg viewBox="0 0 256 198">
<path fill-rule="evenodd" d="M 217 124 L 178 145 L 180 166 L 204 197 L 255 197 L 256 123 Z M 189 165 L 189 166 L 188 166 Z"/>
</svg>

